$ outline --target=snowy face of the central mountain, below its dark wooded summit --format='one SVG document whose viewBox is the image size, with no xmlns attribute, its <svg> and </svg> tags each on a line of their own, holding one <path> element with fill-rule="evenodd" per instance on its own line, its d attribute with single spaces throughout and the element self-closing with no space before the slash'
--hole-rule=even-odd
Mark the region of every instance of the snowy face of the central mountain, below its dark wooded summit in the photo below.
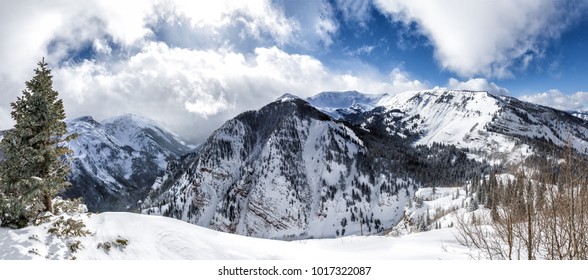
<svg viewBox="0 0 588 280">
<path fill-rule="evenodd" d="M 173 216 L 184 221 L 281 240 L 360 234 L 355 219 L 360 212 L 378 220 L 378 227 L 364 225 L 371 233 L 392 227 L 402 216 L 407 193 L 380 195 L 381 184 L 397 178 L 378 174 L 384 179 L 374 183 L 357 170 L 357 154 L 365 147 L 345 125 L 293 114 L 249 147 L 248 122 L 233 119 L 215 131 L 191 163 L 190 169 L 200 172 L 174 175 L 162 195 L 144 201 L 142 213 L 169 216 L 174 204 Z M 221 144 L 230 145 L 232 155 L 219 157 Z M 368 193 L 362 196 L 373 199 L 353 196 L 360 192 L 352 183 L 356 178 L 365 186 L 361 192 Z"/>
</svg>

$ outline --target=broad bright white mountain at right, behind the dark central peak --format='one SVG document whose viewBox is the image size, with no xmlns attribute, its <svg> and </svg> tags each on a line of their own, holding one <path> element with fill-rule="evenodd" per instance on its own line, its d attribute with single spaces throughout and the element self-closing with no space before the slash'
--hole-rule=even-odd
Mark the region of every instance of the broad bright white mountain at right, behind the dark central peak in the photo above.
<svg viewBox="0 0 588 280">
<path fill-rule="evenodd" d="M 339 95 L 358 98 L 361 94 Z M 586 121 L 513 97 L 477 91 L 429 90 L 371 98 L 377 100 L 372 103 L 375 109 L 356 111 L 344 115 L 343 119 L 364 128 L 383 126 L 388 133 L 401 137 L 416 134 L 415 145 L 455 145 L 468 149 L 471 155 L 501 163 L 521 159 L 531 152 L 533 147 L 529 145 L 542 143 L 565 146 L 571 142 L 576 150 L 588 154 Z M 333 107 L 336 106 L 322 104 L 317 108 L 330 112 Z"/>
</svg>

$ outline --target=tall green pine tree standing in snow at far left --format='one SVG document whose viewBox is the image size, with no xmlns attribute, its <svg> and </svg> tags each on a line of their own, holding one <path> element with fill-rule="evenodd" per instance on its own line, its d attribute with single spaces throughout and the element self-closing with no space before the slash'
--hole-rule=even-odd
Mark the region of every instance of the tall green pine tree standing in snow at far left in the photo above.
<svg viewBox="0 0 588 280">
<path fill-rule="evenodd" d="M 51 70 L 44 59 L 38 65 L 22 96 L 10 104 L 14 129 L 0 143 L 3 225 L 23 227 L 36 211 L 53 213 L 53 196 L 69 185 L 64 156 L 71 151 L 65 143 L 73 135 L 66 136 L 63 101 L 53 89 Z"/>
</svg>

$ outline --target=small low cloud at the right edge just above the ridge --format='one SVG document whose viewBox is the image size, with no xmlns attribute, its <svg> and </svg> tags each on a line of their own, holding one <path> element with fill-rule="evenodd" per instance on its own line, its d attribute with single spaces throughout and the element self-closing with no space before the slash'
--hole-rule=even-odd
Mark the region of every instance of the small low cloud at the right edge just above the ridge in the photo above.
<svg viewBox="0 0 588 280">
<path fill-rule="evenodd" d="M 519 99 L 560 110 L 588 109 L 588 92 L 584 91 L 566 95 L 557 89 L 551 89 L 547 92 L 523 95 Z"/>
</svg>

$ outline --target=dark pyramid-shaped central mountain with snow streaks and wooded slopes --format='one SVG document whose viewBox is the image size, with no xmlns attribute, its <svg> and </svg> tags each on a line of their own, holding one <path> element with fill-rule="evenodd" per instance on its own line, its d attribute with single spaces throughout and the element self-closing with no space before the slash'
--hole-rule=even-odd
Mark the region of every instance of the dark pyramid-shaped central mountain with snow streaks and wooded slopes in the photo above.
<svg viewBox="0 0 588 280">
<path fill-rule="evenodd" d="M 419 187 L 490 168 L 452 146 L 413 147 L 417 137 L 366 133 L 302 99 L 278 98 L 170 162 L 142 212 L 264 238 L 382 232 Z"/>
</svg>

